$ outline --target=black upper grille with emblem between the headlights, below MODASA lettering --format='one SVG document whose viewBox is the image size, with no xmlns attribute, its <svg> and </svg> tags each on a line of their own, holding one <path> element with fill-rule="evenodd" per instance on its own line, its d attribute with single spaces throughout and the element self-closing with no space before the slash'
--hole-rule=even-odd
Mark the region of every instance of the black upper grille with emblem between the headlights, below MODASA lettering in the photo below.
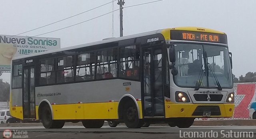
<svg viewBox="0 0 256 139">
<path fill-rule="evenodd" d="M 221 101 L 223 98 L 222 94 L 209 94 L 210 101 Z M 194 98 L 196 101 L 208 101 L 208 94 L 194 94 Z"/>
</svg>

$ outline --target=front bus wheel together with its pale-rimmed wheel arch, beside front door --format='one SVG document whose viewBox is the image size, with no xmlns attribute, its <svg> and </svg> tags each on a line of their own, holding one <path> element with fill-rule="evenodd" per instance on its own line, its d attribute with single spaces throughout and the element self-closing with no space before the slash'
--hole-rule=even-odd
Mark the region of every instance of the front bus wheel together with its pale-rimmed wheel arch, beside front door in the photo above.
<svg viewBox="0 0 256 139">
<path fill-rule="evenodd" d="M 128 128 L 140 128 L 142 120 L 140 119 L 140 109 L 135 98 L 130 95 L 124 95 L 118 104 L 118 118 L 124 121 Z"/>
</svg>

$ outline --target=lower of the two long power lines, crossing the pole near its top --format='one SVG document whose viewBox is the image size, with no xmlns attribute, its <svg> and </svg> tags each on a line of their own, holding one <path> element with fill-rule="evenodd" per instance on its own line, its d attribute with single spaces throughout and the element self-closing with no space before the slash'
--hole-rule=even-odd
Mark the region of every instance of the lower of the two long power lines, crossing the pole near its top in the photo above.
<svg viewBox="0 0 256 139">
<path fill-rule="evenodd" d="M 116 0 L 114 0 L 114 1 L 116 1 Z M 114 2 L 114 1 L 113 1 L 113 2 Z M 162 1 L 162 0 L 157 0 L 157 1 L 153 1 L 153 2 L 158 2 L 158 1 Z M 149 3 L 153 3 L 153 2 L 146 2 L 146 3 L 142 3 L 142 4 L 136 4 L 136 5 L 127 6 L 127 7 L 123 7 L 123 8 L 129 8 L 129 7 L 139 6 L 139 5 L 143 5 L 143 4 L 149 4 Z M 76 23 L 76 24 L 74 24 L 74 25 L 70 25 L 70 26 L 67 26 L 67 27 L 63 27 L 63 28 L 60 28 L 60 29 L 56 29 L 56 30 L 54 30 L 54 31 L 42 33 L 42 34 L 35 35 L 35 36 L 31 36 L 31 37 L 36 37 L 36 36 L 40 36 L 40 35 L 52 33 L 52 32 L 55 32 L 55 31 L 59 31 L 59 30 L 62 30 L 62 29 L 66 29 L 66 28 L 68 28 L 68 27 L 72 27 L 72 26 L 75 26 L 75 25 L 78 25 L 78 24 L 81 24 L 81 23 L 84 23 L 84 22 L 88 22 L 88 21 L 90 21 L 90 20 L 94 20 L 94 19 L 96 19 L 96 18 L 100 18 L 100 17 L 105 16 L 105 15 L 107 15 L 107 14 L 113 13 L 113 12 L 115 12 L 115 11 L 117 11 L 117 10 L 119 10 L 119 9 L 113 10 L 112 12 L 108 12 L 108 13 L 106 13 L 106 14 L 102 14 L 102 15 L 100 15 L 100 16 L 97 16 L 97 17 L 95 17 L 95 18 L 91 18 L 91 19 L 89 19 L 89 20 L 86 20 L 86 21 L 83 21 L 83 22 L 80 22 L 80 23 Z"/>
</svg>

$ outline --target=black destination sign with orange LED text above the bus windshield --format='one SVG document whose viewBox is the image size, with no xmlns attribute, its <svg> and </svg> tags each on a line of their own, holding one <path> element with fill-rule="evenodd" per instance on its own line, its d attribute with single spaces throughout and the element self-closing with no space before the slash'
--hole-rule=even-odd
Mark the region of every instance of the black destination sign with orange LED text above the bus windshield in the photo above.
<svg viewBox="0 0 256 139">
<path fill-rule="evenodd" d="M 171 30 L 171 39 L 174 40 L 187 40 L 187 41 L 204 41 L 211 43 L 226 43 L 226 34 L 198 32 L 198 31 L 183 31 Z"/>
</svg>

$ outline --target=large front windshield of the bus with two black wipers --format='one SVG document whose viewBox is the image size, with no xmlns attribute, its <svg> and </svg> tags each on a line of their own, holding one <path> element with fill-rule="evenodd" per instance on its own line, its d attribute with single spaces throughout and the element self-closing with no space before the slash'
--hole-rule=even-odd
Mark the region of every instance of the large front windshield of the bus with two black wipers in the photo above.
<svg viewBox="0 0 256 139">
<path fill-rule="evenodd" d="M 174 82 L 180 87 L 232 88 L 228 48 L 220 45 L 174 44 L 178 74 Z M 196 89 L 198 90 L 198 89 Z"/>
</svg>

